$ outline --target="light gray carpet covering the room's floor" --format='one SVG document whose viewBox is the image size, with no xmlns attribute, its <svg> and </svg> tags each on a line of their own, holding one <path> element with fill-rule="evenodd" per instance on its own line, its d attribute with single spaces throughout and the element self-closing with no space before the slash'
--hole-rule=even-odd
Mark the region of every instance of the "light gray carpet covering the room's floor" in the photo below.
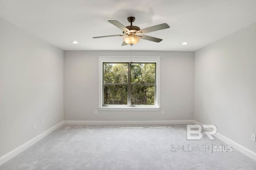
<svg viewBox="0 0 256 170">
<path fill-rule="evenodd" d="M 256 170 L 233 152 L 173 152 L 171 145 L 224 145 L 186 140 L 186 125 L 63 125 L 0 166 L 1 170 Z M 163 126 L 163 125 L 161 125 Z"/>
</svg>

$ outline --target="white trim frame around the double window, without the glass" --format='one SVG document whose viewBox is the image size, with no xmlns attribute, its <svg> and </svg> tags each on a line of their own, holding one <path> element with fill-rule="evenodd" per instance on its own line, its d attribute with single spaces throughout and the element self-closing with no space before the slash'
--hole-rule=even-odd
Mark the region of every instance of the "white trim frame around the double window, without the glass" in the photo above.
<svg viewBox="0 0 256 170">
<path fill-rule="evenodd" d="M 160 110 L 160 58 L 161 57 L 109 57 L 109 56 L 99 56 L 99 110 L 113 110 L 113 111 L 158 111 Z M 133 107 L 120 107 L 120 106 L 111 106 L 104 107 L 102 106 L 103 101 L 103 89 L 102 89 L 102 81 L 103 81 L 103 63 L 124 63 L 124 62 L 133 62 L 133 63 L 156 63 L 156 105 L 152 106 L 133 106 Z"/>
</svg>

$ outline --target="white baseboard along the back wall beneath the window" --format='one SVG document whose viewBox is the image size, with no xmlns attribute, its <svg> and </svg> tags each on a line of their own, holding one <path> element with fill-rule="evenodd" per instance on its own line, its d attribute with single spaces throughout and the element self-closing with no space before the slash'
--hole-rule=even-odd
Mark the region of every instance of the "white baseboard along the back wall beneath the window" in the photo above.
<svg viewBox="0 0 256 170">
<path fill-rule="evenodd" d="M 65 120 L 65 125 L 175 125 L 194 124 L 194 120 L 158 120 L 158 121 L 70 121 Z"/>
</svg>

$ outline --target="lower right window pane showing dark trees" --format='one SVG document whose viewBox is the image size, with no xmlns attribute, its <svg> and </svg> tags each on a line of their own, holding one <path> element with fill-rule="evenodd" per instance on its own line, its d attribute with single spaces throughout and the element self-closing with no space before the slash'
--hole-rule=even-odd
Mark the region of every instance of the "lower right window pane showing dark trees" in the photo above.
<svg viewBox="0 0 256 170">
<path fill-rule="evenodd" d="M 155 86 L 132 86 L 132 105 L 154 105 Z"/>
</svg>

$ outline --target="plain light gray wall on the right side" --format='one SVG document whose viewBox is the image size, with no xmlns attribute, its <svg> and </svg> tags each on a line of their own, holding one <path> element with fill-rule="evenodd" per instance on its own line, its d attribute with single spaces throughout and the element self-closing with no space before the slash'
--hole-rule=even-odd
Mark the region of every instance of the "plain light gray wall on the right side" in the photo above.
<svg viewBox="0 0 256 170">
<path fill-rule="evenodd" d="M 195 52 L 195 120 L 256 152 L 256 23 Z"/>
</svg>

